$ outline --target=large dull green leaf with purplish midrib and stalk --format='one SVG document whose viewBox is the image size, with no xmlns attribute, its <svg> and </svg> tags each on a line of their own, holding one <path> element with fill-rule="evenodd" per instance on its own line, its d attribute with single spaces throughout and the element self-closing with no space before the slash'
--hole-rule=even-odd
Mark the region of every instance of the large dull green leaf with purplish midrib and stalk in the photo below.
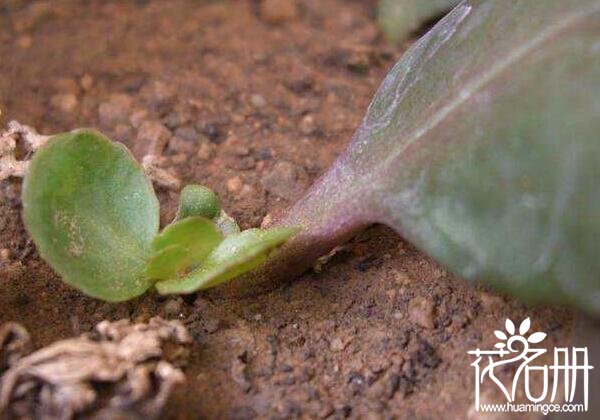
<svg viewBox="0 0 600 420">
<path fill-rule="evenodd" d="M 465 1 L 290 210 L 298 269 L 382 222 L 460 276 L 600 314 L 600 1 Z"/>
</svg>

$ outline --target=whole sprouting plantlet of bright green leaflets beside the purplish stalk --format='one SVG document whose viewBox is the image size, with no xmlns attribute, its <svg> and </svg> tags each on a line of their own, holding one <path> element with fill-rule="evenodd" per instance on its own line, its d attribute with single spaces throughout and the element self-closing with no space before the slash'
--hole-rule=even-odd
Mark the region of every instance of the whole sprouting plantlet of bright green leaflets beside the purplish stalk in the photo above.
<svg viewBox="0 0 600 420">
<path fill-rule="evenodd" d="M 70 285 L 107 301 L 156 286 L 190 293 L 264 261 L 296 228 L 239 231 L 209 189 L 182 190 L 159 233 L 158 200 L 121 144 L 92 130 L 52 137 L 34 156 L 23 214 L 41 256 Z"/>
</svg>

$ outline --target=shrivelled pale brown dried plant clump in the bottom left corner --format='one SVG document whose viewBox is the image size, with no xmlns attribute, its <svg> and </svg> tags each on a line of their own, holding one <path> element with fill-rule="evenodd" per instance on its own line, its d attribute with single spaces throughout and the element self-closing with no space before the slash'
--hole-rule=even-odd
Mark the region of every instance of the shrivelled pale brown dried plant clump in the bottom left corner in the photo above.
<svg viewBox="0 0 600 420">
<path fill-rule="evenodd" d="M 173 363 L 187 357 L 191 339 L 180 323 L 156 317 L 147 324 L 102 321 L 89 334 L 23 356 L 28 342 L 18 324 L 0 329 L 0 360 L 7 367 L 0 416 L 155 418 L 184 380 Z"/>
</svg>

